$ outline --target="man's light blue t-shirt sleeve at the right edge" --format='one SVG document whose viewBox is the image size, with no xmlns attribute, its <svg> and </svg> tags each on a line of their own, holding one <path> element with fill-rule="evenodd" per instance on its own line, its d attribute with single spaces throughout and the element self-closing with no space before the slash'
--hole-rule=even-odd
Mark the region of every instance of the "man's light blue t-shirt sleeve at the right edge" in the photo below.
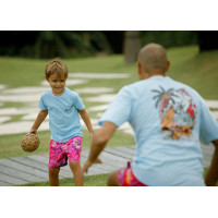
<svg viewBox="0 0 218 218">
<path fill-rule="evenodd" d="M 211 141 L 218 138 L 218 121 L 211 114 L 204 99 L 201 99 L 201 114 L 199 114 L 199 140 L 204 144 L 209 144 Z"/>
</svg>

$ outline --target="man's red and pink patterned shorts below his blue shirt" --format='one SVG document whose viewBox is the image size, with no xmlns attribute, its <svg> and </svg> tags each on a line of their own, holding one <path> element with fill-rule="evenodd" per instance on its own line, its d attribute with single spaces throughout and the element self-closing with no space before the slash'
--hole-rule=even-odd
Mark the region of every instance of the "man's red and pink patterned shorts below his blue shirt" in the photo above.
<svg viewBox="0 0 218 218">
<path fill-rule="evenodd" d="M 128 162 L 128 166 L 118 172 L 118 181 L 121 186 L 148 186 L 142 183 L 134 175 L 131 161 Z"/>
</svg>

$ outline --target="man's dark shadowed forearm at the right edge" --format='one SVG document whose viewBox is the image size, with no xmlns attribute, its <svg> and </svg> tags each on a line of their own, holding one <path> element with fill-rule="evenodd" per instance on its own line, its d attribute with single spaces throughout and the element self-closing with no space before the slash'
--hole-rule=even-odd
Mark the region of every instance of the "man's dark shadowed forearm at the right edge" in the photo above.
<svg viewBox="0 0 218 218">
<path fill-rule="evenodd" d="M 215 145 L 215 152 L 211 158 L 210 167 L 205 177 L 205 184 L 207 186 L 216 186 L 218 182 L 218 140 L 213 141 L 213 144 Z"/>
</svg>

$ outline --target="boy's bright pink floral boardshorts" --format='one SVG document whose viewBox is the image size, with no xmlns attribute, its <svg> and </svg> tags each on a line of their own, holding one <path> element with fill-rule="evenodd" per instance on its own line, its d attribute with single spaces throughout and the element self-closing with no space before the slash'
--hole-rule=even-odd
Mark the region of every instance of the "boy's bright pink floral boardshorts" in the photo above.
<svg viewBox="0 0 218 218">
<path fill-rule="evenodd" d="M 74 136 L 66 143 L 58 143 L 51 140 L 48 168 L 63 167 L 68 165 L 68 160 L 70 162 L 80 161 L 82 142 L 83 138 L 81 136 Z"/>
</svg>

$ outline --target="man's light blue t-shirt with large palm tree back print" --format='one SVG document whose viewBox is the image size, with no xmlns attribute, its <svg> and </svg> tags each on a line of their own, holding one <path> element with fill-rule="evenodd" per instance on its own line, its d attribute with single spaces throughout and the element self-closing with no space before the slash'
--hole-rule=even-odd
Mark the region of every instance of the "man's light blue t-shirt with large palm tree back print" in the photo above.
<svg viewBox="0 0 218 218">
<path fill-rule="evenodd" d="M 191 87 L 166 76 L 124 86 L 101 117 L 135 133 L 135 177 L 152 186 L 199 186 L 203 154 L 199 140 L 218 138 L 218 122 Z"/>
</svg>

